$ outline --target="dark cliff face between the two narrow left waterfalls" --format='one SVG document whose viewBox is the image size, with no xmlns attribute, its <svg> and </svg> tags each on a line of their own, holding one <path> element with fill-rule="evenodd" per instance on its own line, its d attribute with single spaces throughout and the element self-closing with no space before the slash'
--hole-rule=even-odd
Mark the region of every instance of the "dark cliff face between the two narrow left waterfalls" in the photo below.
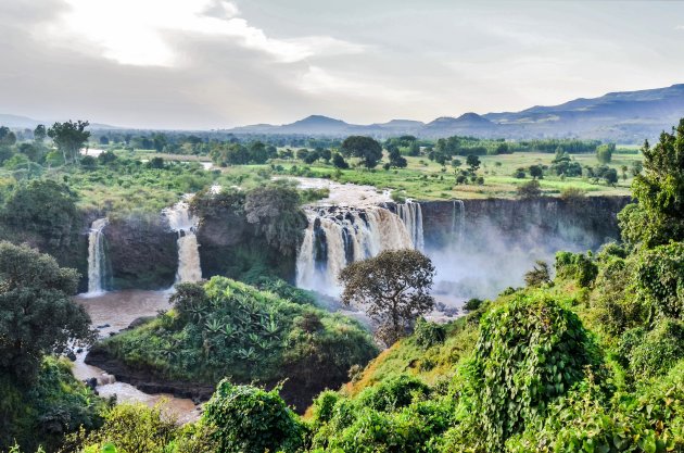
<svg viewBox="0 0 684 453">
<path fill-rule="evenodd" d="M 104 228 L 111 289 L 165 289 L 178 268 L 177 235 L 159 216 L 112 218 Z"/>
</svg>

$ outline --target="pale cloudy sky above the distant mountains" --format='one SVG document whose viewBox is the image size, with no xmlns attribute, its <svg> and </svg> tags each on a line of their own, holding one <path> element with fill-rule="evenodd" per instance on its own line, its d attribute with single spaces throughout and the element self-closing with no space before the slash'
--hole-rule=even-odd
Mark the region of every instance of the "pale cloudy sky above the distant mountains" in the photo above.
<svg viewBox="0 0 684 453">
<path fill-rule="evenodd" d="M 0 113 L 429 122 L 684 83 L 684 1 L 0 0 Z"/>
</svg>

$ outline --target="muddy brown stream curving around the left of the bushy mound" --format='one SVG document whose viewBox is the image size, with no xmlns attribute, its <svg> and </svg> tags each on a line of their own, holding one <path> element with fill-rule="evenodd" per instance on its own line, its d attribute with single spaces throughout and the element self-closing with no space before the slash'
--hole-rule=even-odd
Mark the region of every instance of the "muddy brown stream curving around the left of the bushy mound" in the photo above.
<svg viewBox="0 0 684 453">
<path fill-rule="evenodd" d="M 77 303 L 86 307 L 94 327 L 109 325 L 99 328 L 101 338 L 106 338 L 110 332 L 125 329 L 136 318 L 155 316 L 159 311 L 168 310 L 169 295 L 170 292 L 168 291 L 129 290 L 97 295 L 79 294 L 75 299 Z M 84 351 L 76 355 L 74 376 L 79 380 L 97 378 L 97 389 L 101 397 L 107 398 L 116 394 L 119 403 L 142 402 L 149 406 L 162 402 L 164 412 L 176 417 L 181 424 L 199 418 L 200 410 L 191 400 L 165 393 L 149 394 L 129 383 L 116 382 L 113 376 L 102 369 L 87 365 L 84 362 L 86 354 L 87 351 Z"/>
</svg>

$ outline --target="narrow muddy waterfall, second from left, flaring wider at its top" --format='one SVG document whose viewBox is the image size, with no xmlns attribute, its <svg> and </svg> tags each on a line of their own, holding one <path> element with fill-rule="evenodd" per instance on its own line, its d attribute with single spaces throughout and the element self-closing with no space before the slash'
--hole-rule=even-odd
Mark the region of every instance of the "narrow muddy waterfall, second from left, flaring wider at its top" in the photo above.
<svg viewBox="0 0 684 453">
<path fill-rule="evenodd" d="M 178 270 L 176 272 L 176 284 L 200 281 L 202 279 L 202 267 L 200 265 L 200 246 L 195 231 L 198 228 L 198 217 L 190 214 L 188 199 L 176 203 L 173 207 L 165 209 L 164 215 L 168 218 L 170 228 L 178 234 Z"/>
</svg>

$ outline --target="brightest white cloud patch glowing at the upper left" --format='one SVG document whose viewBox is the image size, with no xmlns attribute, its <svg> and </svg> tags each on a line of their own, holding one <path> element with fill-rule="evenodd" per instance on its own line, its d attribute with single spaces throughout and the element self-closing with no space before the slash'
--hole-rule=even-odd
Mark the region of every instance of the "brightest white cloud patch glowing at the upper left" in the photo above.
<svg viewBox="0 0 684 453">
<path fill-rule="evenodd" d="M 227 38 L 245 49 L 293 63 L 322 54 L 358 53 L 363 46 L 328 36 L 268 37 L 240 17 L 224 0 L 66 0 L 69 9 L 48 32 L 58 43 L 96 51 L 121 64 L 174 66 L 179 63 L 169 37 L 192 34 Z"/>
</svg>

